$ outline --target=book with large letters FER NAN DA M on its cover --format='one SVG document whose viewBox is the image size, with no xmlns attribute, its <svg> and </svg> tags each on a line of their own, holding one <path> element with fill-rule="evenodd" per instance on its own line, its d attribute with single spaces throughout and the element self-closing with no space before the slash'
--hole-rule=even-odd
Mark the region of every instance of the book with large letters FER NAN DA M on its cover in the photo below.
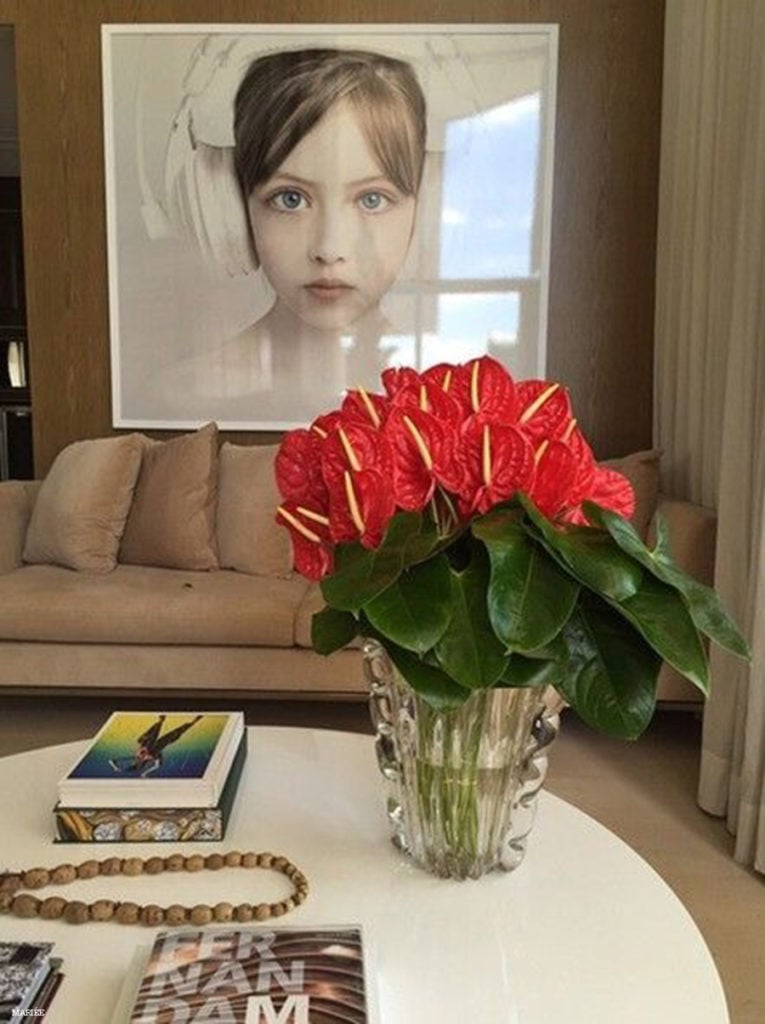
<svg viewBox="0 0 765 1024">
<path fill-rule="evenodd" d="M 367 1024 L 362 931 L 332 928 L 164 932 L 129 1024 Z"/>
</svg>

